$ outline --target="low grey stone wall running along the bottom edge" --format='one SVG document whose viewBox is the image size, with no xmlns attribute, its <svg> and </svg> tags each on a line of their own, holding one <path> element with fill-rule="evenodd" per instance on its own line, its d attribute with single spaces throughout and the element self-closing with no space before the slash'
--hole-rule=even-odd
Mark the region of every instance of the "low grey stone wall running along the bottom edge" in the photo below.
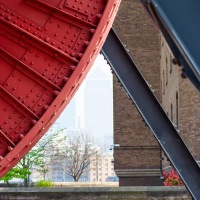
<svg viewBox="0 0 200 200">
<path fill-rule="evenodd" d="M 0 188 L 0 200 L 191 200 L 184 187 Z"/>
</svg>

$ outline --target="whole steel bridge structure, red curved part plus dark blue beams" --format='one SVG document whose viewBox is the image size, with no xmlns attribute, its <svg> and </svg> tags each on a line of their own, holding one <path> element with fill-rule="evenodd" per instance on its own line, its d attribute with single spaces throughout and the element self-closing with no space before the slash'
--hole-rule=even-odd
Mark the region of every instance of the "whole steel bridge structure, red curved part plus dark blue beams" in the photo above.
<svg viewBox="0 0 200 200">
<path fill-rule="evenodd" d="M 200 38 L 195 34 L 200 2 L 141 1 L 200 90 Z M 120 0 L 0 0 L 0 177 L 47 132 L 101 51 L 199 200 L 198 164 L 111 29 L 119 5 Z"/>
</svg>

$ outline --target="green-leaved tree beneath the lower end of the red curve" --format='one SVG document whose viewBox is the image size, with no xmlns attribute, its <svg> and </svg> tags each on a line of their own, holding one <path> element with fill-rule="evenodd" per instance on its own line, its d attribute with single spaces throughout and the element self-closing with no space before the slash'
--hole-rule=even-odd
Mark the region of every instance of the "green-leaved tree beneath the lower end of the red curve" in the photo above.
<svg viewBox="0 0 200 200">
<path fill-rule="evenodd" d="M 50 162 L 50 152 L 51 148 L 53 148 L 53 140 L 57 138 L 63 130 L 64 129 L 56 131 L 50 130 L 49 133 L 44 135 L 37 145 L 19 161 L 17 166 L 11 169 L 0 180 L 3 180 L 9 186 L 10 180 L 13 178 L 20 178 L 24 180 L 24 187 L 28 187 L 33 170 L 40 172 L 45 180 L 46 173 L 48 172 L 48 162 Z"/>
</svg>

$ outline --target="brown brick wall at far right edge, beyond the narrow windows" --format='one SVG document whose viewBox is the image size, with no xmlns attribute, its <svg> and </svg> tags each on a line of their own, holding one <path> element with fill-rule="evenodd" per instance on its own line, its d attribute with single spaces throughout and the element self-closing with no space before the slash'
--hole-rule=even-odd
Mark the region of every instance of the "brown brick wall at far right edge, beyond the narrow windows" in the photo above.
<svg viewBox="0 0 200 200">
<path fill-rule="evenodd" d="M 179 83 L 180 133 L 194 158 L 200 161 L 200 93 L 188 79 Z"/>
</svg>

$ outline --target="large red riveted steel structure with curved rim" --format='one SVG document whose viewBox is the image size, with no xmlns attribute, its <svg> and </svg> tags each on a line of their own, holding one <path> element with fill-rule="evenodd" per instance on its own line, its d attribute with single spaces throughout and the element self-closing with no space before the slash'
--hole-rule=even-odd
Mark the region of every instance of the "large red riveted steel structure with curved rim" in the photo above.
<svg viewBox="0 0 200 200">
<path fill-rule="evenodd" d="M 0 177 L 44 135 L 99 53 L 120 0 L 0 0 Z"/>
</svg>

